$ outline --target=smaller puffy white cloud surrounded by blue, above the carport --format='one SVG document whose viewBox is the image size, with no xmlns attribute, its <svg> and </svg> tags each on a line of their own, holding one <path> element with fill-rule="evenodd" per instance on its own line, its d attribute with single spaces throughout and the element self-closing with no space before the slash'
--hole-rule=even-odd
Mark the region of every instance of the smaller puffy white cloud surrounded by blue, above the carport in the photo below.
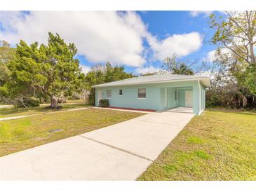
<svg viewBox="0 0 256 192">
<path fill-rule="evenodd" d="M 154 36 L 148 36 L 148 40 L 156 60 L 163 60 L 165 57 L 170 57 L 174 53 L 177 57 L 186 56 L 202 46 L 202 38 L 198 32 L 173 34 L 161 41 Z"/>
</svg>

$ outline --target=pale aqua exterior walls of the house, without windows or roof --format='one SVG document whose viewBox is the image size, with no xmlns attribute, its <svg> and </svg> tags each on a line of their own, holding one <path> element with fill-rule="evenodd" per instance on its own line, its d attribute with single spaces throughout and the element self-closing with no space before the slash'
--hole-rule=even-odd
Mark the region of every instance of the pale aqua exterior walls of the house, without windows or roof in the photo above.
<svg viewBox="0 0 256 192">
<path fill-rule="evenodd" d="M 109 104 L 112 107 L 127 107 L 134 109 L 154 109 L 163 110 L 165 109 L 164 103 L 164 88 L 168 88 L 168 108 L 177 107 L 175 101 L 175 88 L 186 88 L 190 87 L 193 90 L 193 111 L 195 114 L 199 114 L 199 88 L 198 81 L 182 81 L 182 82 L 171 82 L 171 83 L 154 83 L 144 85 L 123 85 L 123 86 L 112 86 L 108 88 L 96 88 L 95 94 L 95 105 L 97 106 L 97 92 L 102 90 L 102 99 L 107 99 L 107 90 L 112 90 L 112 98 L 108 99 Z M 137 89 L 146 88 L 146 99 L 138 100 Z M 119 90 L 123 90 L 123 96 L 119 96 Z M 203 86 L 201 86 L 201 90 Z M 203 94 L 203 91 L 201 91 Z M 179 93 L 178 93 L 179 95 Z M 203 106 L 201 104 L 201 106 Z"/>
</svg>

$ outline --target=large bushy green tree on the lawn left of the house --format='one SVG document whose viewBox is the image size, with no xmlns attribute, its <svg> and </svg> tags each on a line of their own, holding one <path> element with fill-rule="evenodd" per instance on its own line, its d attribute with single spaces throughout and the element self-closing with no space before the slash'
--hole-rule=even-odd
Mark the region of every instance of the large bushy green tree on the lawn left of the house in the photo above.
<svg viewBox="0 0 256 192">
<path fill-rule="evenodd" d="M 11 95 L 50 99 L 50 107 L 57 108 L 58 98 L 72 95 L 82 85 L 84 75 L 75 55 L 74 43 L 65 43 L 58 34 L 49 32 L 48 45 L 28 46 L 21 40 L 9 65 Z"/>
</svg>

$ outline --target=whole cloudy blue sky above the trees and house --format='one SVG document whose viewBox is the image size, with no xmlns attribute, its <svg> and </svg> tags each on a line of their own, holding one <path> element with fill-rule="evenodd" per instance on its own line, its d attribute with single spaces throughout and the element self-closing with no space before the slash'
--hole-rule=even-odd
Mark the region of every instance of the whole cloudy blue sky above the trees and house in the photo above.
<svg viewBox="0 0 256 192">
<path fill-rule="evenodd" d="M 157 71 L 166 56 L 202 60 L 215 50 L 209 43 L 209 11 L 0 12 L 0 39 L 15 45 L 46 43 L 47 32 L 74 42 L 84 71 L 111 62 L 128 72 Z M 222 13 L 215 12 L 220 15 Z"/>
</svg>

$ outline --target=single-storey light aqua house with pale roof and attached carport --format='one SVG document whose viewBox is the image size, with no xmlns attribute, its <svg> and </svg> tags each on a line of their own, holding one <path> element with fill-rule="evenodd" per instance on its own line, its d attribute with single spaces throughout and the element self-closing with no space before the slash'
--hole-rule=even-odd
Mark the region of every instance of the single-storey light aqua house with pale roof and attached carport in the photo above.
<svg viewBox="0 0 256 192">
<path fill-rule="evenodd" d="M 206 107 L 206 88 L 210 78 L 177 74 L 159 74 L 126 78 L 94 85 L 95 105 L 102 99 L 110 107 L 153 109 L 161 111 L 177 107 L 193 109 L 200 115 Z"/>
</svg>

